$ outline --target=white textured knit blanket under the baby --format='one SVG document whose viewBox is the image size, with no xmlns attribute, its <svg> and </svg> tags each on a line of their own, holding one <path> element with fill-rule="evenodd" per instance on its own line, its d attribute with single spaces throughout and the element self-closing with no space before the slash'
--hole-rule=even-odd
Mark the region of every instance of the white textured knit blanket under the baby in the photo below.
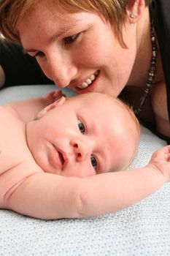
<svg viewBox="0 0 170 256">
<path fill-rule="evenodd" d="M 0 91 L 0 103 L 44 95 L 54 86 L 18 86 Z M 71 95 L 68 89 L 64 90 Z M 166 142 L 142 127 L 131 167 L 145 165 Z M 45 221 L 0 210 L 1 256 L 169 256 L 170 184 L 134 206 L 88 219 Z"/>
</svg>

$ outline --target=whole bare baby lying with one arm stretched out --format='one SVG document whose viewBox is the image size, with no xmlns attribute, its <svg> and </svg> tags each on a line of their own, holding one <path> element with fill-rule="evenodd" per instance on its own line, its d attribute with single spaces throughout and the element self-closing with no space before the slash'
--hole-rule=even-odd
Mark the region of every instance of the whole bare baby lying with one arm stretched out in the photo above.
<svg viewBox="0 0 170 256">
<path fill-rule="evenodd" d="M 169 147 L 147 167 L 115 172 L 134 158 L 139 123 L 108 95 L 52 92 L 1 106 L 0 123 L 0 208 L 42 219 L 90 217 L 169 181 Z"/>
</svg>

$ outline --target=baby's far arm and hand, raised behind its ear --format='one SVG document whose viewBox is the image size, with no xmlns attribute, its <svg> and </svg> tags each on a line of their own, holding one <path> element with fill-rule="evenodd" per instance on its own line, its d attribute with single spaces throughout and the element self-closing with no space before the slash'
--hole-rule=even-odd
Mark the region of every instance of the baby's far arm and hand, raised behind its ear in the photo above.
<svg viewBox="0 0 170 256">
<path fill-rule="evenodd" d="M 60 99 L 64 94 L 61 91 L 50 91 L 45 97 L 20 100 L 4 105 L 12 113 L 17 114 L 22 121 L 28 122 L 37 118 L 40 110 Z"/>
</svg>

